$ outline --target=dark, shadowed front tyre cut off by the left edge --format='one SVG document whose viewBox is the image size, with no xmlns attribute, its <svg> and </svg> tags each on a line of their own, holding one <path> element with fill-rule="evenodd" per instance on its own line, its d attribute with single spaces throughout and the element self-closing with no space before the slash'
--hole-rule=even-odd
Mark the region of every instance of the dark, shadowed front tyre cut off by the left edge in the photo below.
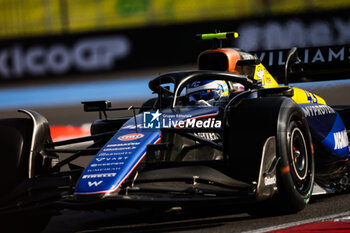
<svg viewBox="0 0 350 233">
<path fill-rule="evenodd" d="M 0 120 L 0 193 L 6 194 L 28 179 L 29 152 L 33 133 L 33 122 L 25 118 Z M 9 204 L 9 203 L 5 203 Z M 48 211 L 5 216 L 1 221 L 4 232 L 40 232 L 50 221 Z"/>
</svg>

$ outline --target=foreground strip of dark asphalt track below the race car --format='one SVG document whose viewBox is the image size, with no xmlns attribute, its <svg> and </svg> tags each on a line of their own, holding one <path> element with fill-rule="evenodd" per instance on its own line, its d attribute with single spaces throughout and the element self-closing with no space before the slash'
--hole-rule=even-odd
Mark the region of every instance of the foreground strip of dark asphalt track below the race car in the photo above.
<svg viewBox="0 0 350 233">
<path fill-rule="evenodd" d="M 254 218 L 244 207 L 215 210 L 159 211 L 116 210 L 106 212 L 63 211 L 52 218 L 45 233 L 62 232 L 266 232 L 289 224 L 327 220 L 349 215 L 350 194 L 314 198 L 297 214 Z"/>
</svg>

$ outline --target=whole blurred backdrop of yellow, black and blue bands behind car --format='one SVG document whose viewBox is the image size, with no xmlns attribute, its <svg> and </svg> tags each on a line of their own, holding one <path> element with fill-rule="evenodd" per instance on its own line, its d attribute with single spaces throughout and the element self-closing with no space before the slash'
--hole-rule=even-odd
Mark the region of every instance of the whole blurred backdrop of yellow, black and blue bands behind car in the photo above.
<svg viewBox="0 0 350 233">
<path fill-rule="evenodd" d="M 302 59 L 348 64 L 350 0 L 0 0 L 0 117 L 31 108 L 52 124 L 79 125 L 97 117 L 81 101 L 140 105 L 154 76 L 195 69 L 210 43 L 194 35 L 216 30 L 239 32 L 227 46 L 267 66 L 283 67 L 293 46 L 335 46 L 303 50 Z"/>
</svg>

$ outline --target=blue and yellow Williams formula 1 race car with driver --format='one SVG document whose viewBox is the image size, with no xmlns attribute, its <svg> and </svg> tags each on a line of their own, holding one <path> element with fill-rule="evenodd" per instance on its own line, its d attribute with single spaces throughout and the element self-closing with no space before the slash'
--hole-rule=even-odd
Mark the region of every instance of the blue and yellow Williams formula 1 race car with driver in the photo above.
<svg viewBox="0 0 350 233">
<path fill-rule="evenodd" d="M 237 36 L 199 35 L 216 43 Z M 295 61 L 292 49 L 285 84 Z M 257 207 L 252 214 L 295 213 L 313 194 L 348 189 L 347 108 L 280 86 L 240 49 L 204 51 L 198 68 L 151 80 L 158 97 L 139 108 L 83 102 L 100 113 L 88 137 L 53 142 L 47 120 L 31 110 L 0 120 L 3 224 L 40 231 L 62 209 L 247 204 Z M 209 87 L 213 80 L 221 86 Z M 107 118 L 128 110 L 130 118 Z M 81 167 L 74 160 L 82 156 L 94 157 Z"/>
</svg>

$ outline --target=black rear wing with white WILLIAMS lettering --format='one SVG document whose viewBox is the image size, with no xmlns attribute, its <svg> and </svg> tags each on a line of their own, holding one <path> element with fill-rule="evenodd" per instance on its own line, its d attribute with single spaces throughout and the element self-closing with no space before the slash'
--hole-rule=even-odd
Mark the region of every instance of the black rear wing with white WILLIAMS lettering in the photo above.
<svg viewBox="0 0 350 233">
<path fill-rule="evenodd" d="M 284 82 L 289 49 L 251 52 L 274 76 Z M 298 48 L 301 62 L 289 69 L 288 81 L 312 82 L 350 79 L 350 45 Z"/>
</svg>

